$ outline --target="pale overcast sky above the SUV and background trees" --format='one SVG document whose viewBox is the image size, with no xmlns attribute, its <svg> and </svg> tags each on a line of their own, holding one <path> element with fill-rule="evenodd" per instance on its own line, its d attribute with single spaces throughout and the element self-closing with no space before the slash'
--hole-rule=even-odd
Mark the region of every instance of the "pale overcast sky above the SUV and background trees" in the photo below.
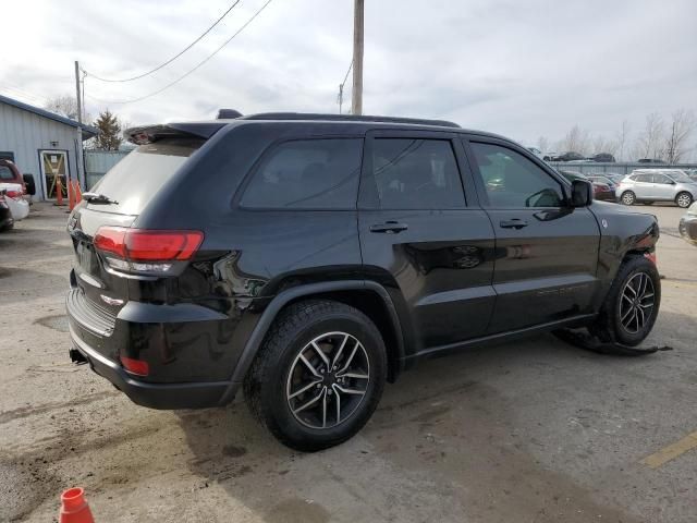
<svg viewBox="0 0 697 523">
<path fill-rule="evenodd" d="M 132 124 L 243 113 L 338 111 L 351 62 L 352 0 L 273 0 L 219 54 L 168 90 L 266 0 L 241 0 L 181 59 L 135 82 L 87 76 L 87 110 Z M 147 71 L 203 33 L 231 0 L 10 2 L 0 93 L 42 106 L 74 94 L 73 61 L 101 76 Z M 107 5 L 113 7 L 107 9 Z M 117 5 L 120 5 L 117 8 Z M 159 7 L 166 5 L 166 7 Z M 364 113 L 443 118 L 533 145 L 578 124 L 697 111 L 695 0 L 366 0 Z M 346 87 L 351 98 L 351 76 Z M 697 142 L 697 137 L 693 137 Z"/>
</svg>

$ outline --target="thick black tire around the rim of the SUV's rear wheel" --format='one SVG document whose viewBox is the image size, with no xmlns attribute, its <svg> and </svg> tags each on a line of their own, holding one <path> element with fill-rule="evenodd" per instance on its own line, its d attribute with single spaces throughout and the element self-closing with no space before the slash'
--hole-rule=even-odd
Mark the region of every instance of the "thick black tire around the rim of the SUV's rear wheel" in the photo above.
<svg viewBox="0 0 697 523">
<path fill-rule="evenodd" d="M 290 397 L 294 396 L 290 393 L 291 387 L 293 380 L 296 379 L 298 370 L 303 373 L 304 369 L 309 374 L 310 380 L 316 379 L 307 366 L 298 363 L 302 361 L 298 358 L 301 358 L 301 354 L 308 354 L 306 358 L 309 360 L 315 354 L 310 343 L 319 337 L 327 336 L 328 338 L 322 338 L 322 340 L 329 340 L 329 344 L 331 344 L 332 333 L 335 333 L 338 338 L 348 335 L 352 340 L 351 343 L 353 343 L 353 340 L 359 342 L 364 349 L 359 355 L 367 362 L 364 365 L 367 370 L 364 372 L 369 377 L 365 382 L 359 382 L 360 387 L 365 387 L 365 393 L 360 396 L 360 399 L 356 399 L 356 396 L 353 394 L 345 394 L 344 403 L 342 404 L 342 400 L 338 400 L 339 392 L 335 389 L 333 398 L 330 399 L 327 396 L 331 394 L 328 390 L 332 390 L 331 388 L 337 385 L 335 380 L 341 379 L 334 376 L 339 373 L 331 370 L 331 368 L 335 369 L 337 366 L 330 367 L 330 365 L 327 365 L 327 376 L 322 373 L 322 379 L 327 379 L 330 385 L 326 387 L 323 381 L 320 382 L 322 389 L 320 389 L 319 394 L 321 396 L 323 390 L 323 399 L 328 402 L 332 401 L 331 404 L 333 406 L 331 409 L 334 412 L 330 416 L 334 418 L 335 424 L 326 428 L 313 427 L 306 425 L 306 423 L 309 423 L 307 419 L 303 421 L 298 416 L 308 416 L 307 412 L 314 412 L 315 409 L 321 410 L 321 402 L 311 409 L 307 409 L 303 414 L 294 414 L 291 410 L 291 402 L 298 400 L 291 400 Z M 318 343 L 322 343 L 322 341 L 320 340 Z M 348 342 L 345 344 L 348 346 Z M 356 344 L 355 346 L 358 345 Z M 325 351 L 323 348 L 321 350 Z M 341 349 L 338 352 L 341 353 Z M 326 355 L 331 357 L 331 350 Z M 343 354 L 343 360 L 340 361 L 339 365 L 343 365 L 347 358 Z M 322 360 L 318 354 L 316 354 L 316 362 L 311 364 L 317 370 L 323 367 Z M 297 368 L 298 365 L 299 369 Z M 291 375 L 291 373 L 293 374 Z M 380 401 L 386 379 L 386 348 L 380 331 L 375 324 L 360 311 L 343 303 L 327 300 L 308 300 L 292 304 L 280 313 L 269 329 L 264 344 L 247 373 L 244 393 L 252 413 L 279 441 L 295 450 L 314 452 L 342 443 L 363 428 Z M 332 380 L 334 380 L 334 385 L 331 385 Z M 348 378 L 348 381 L 351 381 L 351 378 Z M 344 384 L 343 380 L 342 384 Z M 345 387 L 351 390 L 360 388 L 356 384 L 357 381 L 354 380 L 353 385 L 346 385 Z M 304 382 L 301 381 L 297 389 L 302 389 L 303 386 Z M 319 389 L 320 386 L 317 388 Z M 313 386 L 306 393 L 311 401 L 313 394 L 318 392 Z M 298 398 L 301 403 L 306 403 L 304 396 Z M 357 401 L 357 403 L 346 414 L 347 417 L 342 419 L 341 414 L 337 414 L 337 412 L 341 411 L 341 408 L 335 409 L 337 403 L 333 402 L 334 400 L 344 408 L 351 406 L 351 402 L 355 403 Z M 295 410 L 295 413 L 297 412 L 298 410 Z M 325 422 L 328 415 L 325 406 Z"/>
</svg>

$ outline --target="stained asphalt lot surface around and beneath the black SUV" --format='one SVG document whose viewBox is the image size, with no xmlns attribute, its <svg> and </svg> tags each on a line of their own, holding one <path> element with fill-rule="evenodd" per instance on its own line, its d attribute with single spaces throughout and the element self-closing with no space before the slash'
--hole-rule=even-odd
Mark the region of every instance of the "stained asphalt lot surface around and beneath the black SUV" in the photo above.
<svg viewBox="0 0 697 523">
<path fill-rule="evenodd" d="M 84 486 L 97 522 L 694 522 L 697 248 L 681 209 L 636 209 L 662 232 L 646 344 L 672 351 L 543 336 L 432 360 L 357 437 L 302 454 L 242 401 L 151 411 L 72 365 L 68 215 L 37 204 L 0 234 L 0 521 L 58 521 L 60 492 Z M 667 447 L 674 459 L 643 462 Z"/>
</svg>

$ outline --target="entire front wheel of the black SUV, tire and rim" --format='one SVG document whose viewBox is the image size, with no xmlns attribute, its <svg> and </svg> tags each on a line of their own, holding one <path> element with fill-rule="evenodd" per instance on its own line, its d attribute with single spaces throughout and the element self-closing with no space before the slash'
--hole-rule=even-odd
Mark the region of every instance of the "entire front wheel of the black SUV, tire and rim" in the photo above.
<svg viewBox="0 0 697 523">
<path fill-rule="evenodd" d="M 638 345 L 649 335 L 661 304 L 661 282 L 653 263 L 629 256 L 620 266 L 590 331 L 603 342 Z"/>
</svg>

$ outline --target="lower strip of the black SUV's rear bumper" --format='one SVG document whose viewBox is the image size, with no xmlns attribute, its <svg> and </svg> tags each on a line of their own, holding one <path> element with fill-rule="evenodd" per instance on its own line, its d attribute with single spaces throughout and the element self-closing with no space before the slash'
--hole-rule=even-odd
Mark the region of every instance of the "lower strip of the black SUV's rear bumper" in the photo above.
<svg viewBox="0 0 697 523">
<path fill-rule="evenodd" d="M 206 381 L 186 384 L 150 384 L 135 379 L 117 362 L 109 360 L 87 345 L 70 327 L 70 337 L 75 349 L 85 356 L 91 369 L 111 381 L 134 403 L 150 409 L 200 409 L 218 406 L 229 381 Z"/>
</svg>

